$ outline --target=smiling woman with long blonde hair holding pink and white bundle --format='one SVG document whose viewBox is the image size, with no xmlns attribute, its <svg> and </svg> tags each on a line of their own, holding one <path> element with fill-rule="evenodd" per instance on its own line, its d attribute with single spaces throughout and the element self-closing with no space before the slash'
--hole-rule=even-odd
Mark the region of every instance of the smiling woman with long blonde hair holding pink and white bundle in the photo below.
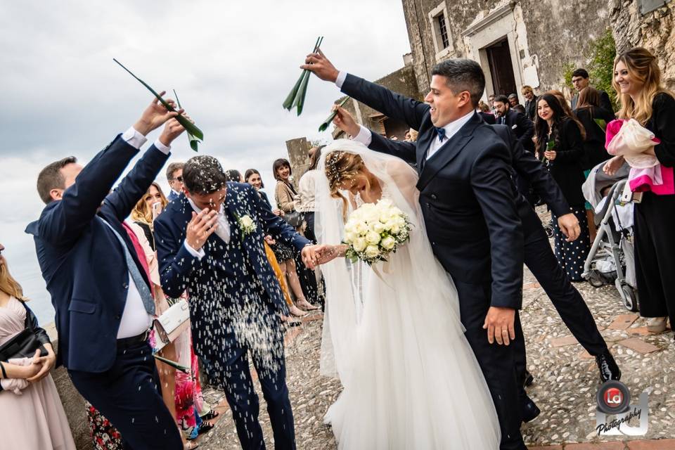
<svg viewBox="0 0 675 450">
<path fill-rule="evenodd" d="M 649 318 L 648 328 L 660 332 L 675 321 L 675 98 L 661 84 L 661 70 L 655 56 L 641 48 L 617 56 L 612 86 L 617 91 L 621 109 L 619 119 L 634 119 L 652 131 L 660 143 L 646 153 L 653 155 L 661 175 L 640 181 L 631 169 L 629 186 L 642 192 L 634 214 L 635 266 L 638 282 L 640 315 Z M 605 164 L 605 172 L 616 172 L 624 163 L 621 156 Z"/>
</svg>

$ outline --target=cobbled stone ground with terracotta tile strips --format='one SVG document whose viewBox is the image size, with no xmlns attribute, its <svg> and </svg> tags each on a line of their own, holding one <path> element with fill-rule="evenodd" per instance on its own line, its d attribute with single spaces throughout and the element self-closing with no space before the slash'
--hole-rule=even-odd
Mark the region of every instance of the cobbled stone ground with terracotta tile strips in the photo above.
<svg viewBox="0 0 675 450">
<path fill-rule="evenodd" d="M 577 283 L 589 304 L 598 328 L 605 336 L 623 372 L 636 404 L 643 391 L 649 392 L 649 429 L 646 436 L 605 444 L 595 432 L 598 375 L 595 362 L 570 336 L 553 305 L 526 271 L 523 289 L 522 323 L 528 351 L 528 368 L 535 376 L 529 395 L 541 409 L 541 415 L 522 428 L 531 448 L 584 449 L 675 449 L 675 349 L 673 333 L 652 335 L 645 321 L 629 314 L 612 285 L 593 288 Z M 321 319 L 321 316 L 315 316 Z M 322 423 L 323 414 L 335 401 L 340 385 L 319 375 L 321 320 L 303 323 L 287 335 L 286 362 L 290 400 L 295 414 L 298 449 L 335 449 L 330 428 Z M 262 394 L 258 390 L 262 399 Z M 206 390 L 212 404 L 220 404 L 221 419 L 216 427 L 199 439 L 200 449 L 238 449 L 233 421 L 222 394 Z M 264 410 L 264 401 L 262 402 Z M 261 422 L 268 448 L 272 448 L 271 428 L 266 412 Z M 631 422 L 634 424 L 634 422 Z M 651 442 L 643 439 L 660 439 Z M 583 443 L 583 444 L 574 444 Z"/>
</svg>

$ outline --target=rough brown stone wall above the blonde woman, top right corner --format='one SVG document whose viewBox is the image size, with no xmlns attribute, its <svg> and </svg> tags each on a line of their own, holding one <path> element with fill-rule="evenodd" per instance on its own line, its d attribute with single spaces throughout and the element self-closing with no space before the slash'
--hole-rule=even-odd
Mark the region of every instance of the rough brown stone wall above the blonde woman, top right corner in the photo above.
<svg viewBox="0 0 675 450">
<path fill-rule="evenodd" d="M 617 53 L 645 47 L 659 60 L 663 81 L 675 89 L 675 2 L 643 15 L 638 0 L 612 1 L 612 28 Z"/>
</svg>

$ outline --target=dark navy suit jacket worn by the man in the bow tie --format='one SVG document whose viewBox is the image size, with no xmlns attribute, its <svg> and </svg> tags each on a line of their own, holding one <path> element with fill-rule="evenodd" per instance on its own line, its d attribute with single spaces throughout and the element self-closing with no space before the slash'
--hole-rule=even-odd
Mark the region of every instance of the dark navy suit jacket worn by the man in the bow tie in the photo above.
<svg viewBox="0 0 675 450">
<path fill-rule="evenodd" d="M 456 281 L 491 284 L 491 305 L 520 308 L 523 236 L 510 181 L 510 152 L 491 127 L 473 117 L 426 159 L 437 134 L 425 103 L 347 75 L 342 92 L 419 131 L 416 146 L 371 148 L 414 162 L 434 254 Z"/>
</svg>

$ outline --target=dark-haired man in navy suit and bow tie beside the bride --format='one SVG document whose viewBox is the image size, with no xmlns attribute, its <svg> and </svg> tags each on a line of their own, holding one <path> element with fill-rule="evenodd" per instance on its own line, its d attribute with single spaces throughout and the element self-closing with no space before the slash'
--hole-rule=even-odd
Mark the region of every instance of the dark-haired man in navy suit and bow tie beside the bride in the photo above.
<svg viewBox="0 0 675 450">
<path fill-rule="evenodd" d="M 302 68 L 419 130 L 415 148 L 392 154 L 415 163 L 420 172 L 417 188 L 427 233 L 457 287 L 465 335 L 499 416 L 501 449 L 524 449 L 508 345 L 522 303 L 523 236 L 509 150 L 475 112 L 485 85 L 480 65 L 465 59 L 437 65 L 426 103 L 338 72 L 321 51 L 307 56 Z"/>
</svg>

